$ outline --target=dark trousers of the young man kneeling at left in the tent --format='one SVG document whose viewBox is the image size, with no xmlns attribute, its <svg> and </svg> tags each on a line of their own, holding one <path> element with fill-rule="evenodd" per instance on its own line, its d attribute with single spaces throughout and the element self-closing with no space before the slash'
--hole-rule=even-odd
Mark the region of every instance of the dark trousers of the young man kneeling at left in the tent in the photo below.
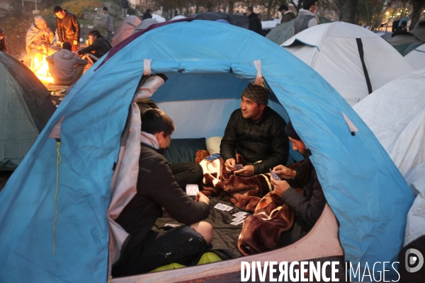
<svg viewBox="0 0 425 283">
<path fill-rule="evenodd" d="M 141 245 L 132 248 L 125 258 L 120 258 L 112 266 L 112 276 L 138 275 L 171 262 L 190 265 L 208 248 L 203 236 L 191 226 L 181 226 L 164 233 L 158 236 L 151 230 Z"/>
</svg>

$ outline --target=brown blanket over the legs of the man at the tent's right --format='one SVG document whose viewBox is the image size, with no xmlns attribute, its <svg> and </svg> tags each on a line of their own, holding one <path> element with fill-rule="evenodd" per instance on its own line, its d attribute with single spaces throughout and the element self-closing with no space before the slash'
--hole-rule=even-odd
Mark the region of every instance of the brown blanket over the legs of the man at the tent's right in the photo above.
<svg viewBox="0 0 425 283">
<path fill-rule="evenodd" d="M 270 192 L 257 205 L 254 215 L 245 219 L 237 246 L 242 255 L 255 255 L 278 248 L 280 233 L 294 224 L 294 212 L 276 192 Z"/>
</svg>

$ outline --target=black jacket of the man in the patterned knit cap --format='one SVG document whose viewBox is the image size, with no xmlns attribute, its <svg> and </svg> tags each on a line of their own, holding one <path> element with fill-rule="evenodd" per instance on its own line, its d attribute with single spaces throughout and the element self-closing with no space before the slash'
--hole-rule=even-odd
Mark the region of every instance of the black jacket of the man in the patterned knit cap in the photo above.
<svg viewBox="0 0 425 283">
<path fill-rule="evenodd" d="M 285 120 L 269 107 L 256 121 L 245 119 L 240 109 L 234 110 L 220 144 L 220 155 L 224 161 L 236 160 L 236 150 L 248 163 L 261 161 L 254 164 L 254 174 L 268 173 L 268 169 L 288 161 L 289 139 L 285 126 Z"/>
</svg>

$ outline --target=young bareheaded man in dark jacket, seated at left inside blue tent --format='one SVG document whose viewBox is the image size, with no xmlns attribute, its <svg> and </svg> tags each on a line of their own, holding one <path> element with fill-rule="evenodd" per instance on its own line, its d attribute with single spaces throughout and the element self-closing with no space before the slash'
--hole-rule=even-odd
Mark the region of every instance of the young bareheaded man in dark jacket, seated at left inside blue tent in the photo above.
<svg viewBox="0 0 425 283">
<path fill-rule="evenodd" d="M 206 250 L 212 241 L 212 226 L 201 221 L 210 214 L 210 200 L 201 192 L 195 200 L 188 197 L 162 155 L 173 131 L 173 120 L 161 110 L 149 109 L 142 115 L 137 194 L 115 219 L 130 235 L 123 244 L 120 259 L 112 267 L 113 277 L 137 275 L 191 259 Z M 151 229 L 162 216 L 162 207 L 187 225 L 158 236 Z"/>
</svg>

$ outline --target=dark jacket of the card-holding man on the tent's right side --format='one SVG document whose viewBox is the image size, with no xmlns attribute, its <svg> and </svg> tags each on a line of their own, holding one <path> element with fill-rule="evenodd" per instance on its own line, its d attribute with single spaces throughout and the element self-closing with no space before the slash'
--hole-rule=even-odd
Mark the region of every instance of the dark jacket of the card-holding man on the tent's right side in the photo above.
<svg viewBox="0 0 425 283">
<path fill-rule="evenodd" d="M 288 180 L 290 188 L 282 195 L 283 202 L 288 204 L 297 215 L 291 243 L 300 240 L 313 228 L 326 204 L 322 186 L 317 179 L 317 173 L 310 158 L 305 158 L 296 171 L 295 179 Z M 302 195 L 294 188 L 302 188 Z"/>
</svg>

